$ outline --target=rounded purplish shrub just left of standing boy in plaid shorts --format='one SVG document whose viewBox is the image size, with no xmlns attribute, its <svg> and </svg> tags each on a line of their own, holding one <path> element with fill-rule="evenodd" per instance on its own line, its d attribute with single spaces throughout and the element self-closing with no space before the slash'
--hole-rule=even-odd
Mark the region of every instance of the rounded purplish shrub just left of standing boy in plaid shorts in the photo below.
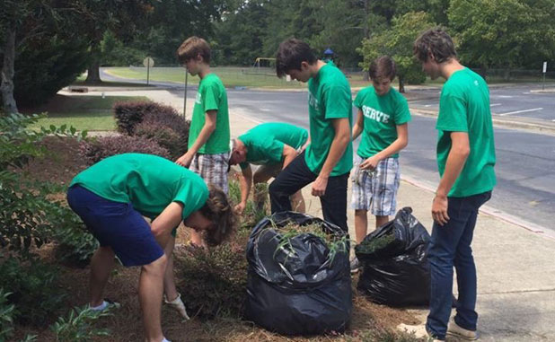
<svg viewBox="0 0 555 342">
<path fill-rule="evenodd" d="M 158 122 L 142 122 L 135 128 L 135 136 L 154 140 L 170 153 L 170 158 L 175 160 L 187 152 L 187 141 L 170 127 L 165 127 Z"/>
</svg>

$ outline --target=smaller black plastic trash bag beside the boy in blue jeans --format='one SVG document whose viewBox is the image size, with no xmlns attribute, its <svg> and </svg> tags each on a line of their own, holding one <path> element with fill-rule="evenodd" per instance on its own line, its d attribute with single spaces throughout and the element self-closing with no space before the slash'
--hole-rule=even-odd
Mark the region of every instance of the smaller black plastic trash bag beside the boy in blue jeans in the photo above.
<svg viewBox="0 0 555 342">
<path fill-rule="evenodd" d="M 430 235 L 412 214 L 402 208 L 395 218 L 368 234 L 355 247 L 362 274 L 357 288 L 374 303 L 391 306 L 427 305 Z"/>
</svg>

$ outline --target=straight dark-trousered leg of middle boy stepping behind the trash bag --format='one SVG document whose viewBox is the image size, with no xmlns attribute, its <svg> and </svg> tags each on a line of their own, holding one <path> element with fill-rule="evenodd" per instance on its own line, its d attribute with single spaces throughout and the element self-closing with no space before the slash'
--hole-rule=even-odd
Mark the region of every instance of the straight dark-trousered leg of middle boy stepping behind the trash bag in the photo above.
<svg viewBox="0 0 555 342">
<path fill-rule="evenodd" d="M 347 226 L 347 182 L 348 172 L 330 177 L 326 192 L 320 197 L 324 220 L 348 232 Z"/>
</svg>

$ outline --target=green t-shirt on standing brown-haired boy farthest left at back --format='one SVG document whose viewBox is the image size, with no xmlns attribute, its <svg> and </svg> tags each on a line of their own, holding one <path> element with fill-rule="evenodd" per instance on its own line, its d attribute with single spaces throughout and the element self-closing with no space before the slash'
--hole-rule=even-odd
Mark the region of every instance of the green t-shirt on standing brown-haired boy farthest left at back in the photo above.
<svg viewBox="0 0 555 342">
<path fill-rule="evenodd" d="M 198 153 L 216 154 L 229 152 L 229 113 L 227 111 L 227 93 L 224 83 L 215 74 L 208 74 L 198 84 L 197 99 L 190 121 L 189 148 L 204 127 L 208 110 L 217 110 L 216 129 L 207 143 L 198 149 Z"/>
</svg>

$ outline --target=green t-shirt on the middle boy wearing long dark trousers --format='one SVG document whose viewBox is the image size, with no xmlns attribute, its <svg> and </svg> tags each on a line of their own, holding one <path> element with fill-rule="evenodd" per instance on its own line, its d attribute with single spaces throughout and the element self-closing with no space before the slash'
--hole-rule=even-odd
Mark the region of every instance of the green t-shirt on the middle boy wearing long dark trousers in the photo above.
<svg viewBox="0 0 555 342">
<path fill-rule="evenodd" d="M 330 153 L 335 136 L 332 119 L 348 118 L 353 126 L 351 88 L 345 75 L 332 64 L 322 66 L 318 75 L 308 81 L 308 114 L 311 143 L 306 147 L 304 160 L 315 174 L 320 173 Z M 353 167 L 353 143 L 348 142 L 345 153 L 330 176 L 347 173 Z"/>
</svg>

